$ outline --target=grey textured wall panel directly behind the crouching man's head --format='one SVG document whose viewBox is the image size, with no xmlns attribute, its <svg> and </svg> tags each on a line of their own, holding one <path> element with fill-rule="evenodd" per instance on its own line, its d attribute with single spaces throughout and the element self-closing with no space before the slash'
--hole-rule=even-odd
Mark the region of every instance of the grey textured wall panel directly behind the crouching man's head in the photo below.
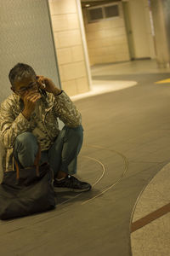
<svg viewBox="0 0 170 256">
<path fill-rule="evenodd" d="M 8 72 L 18 62 L 60 86 L 47 1 L 1 0 L 0 6 L 1 102 L 12 93 Z"/>
</svg>

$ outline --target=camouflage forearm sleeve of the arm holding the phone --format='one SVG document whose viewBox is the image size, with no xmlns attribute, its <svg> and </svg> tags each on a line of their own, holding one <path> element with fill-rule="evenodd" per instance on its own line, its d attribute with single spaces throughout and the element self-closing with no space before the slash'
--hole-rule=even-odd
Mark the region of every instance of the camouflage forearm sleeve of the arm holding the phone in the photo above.
<svg viewBox="0 0 170 256">
<path fill-rule="evenodd" d="M 77 127 L 82 124 L 82 115 L 65 91 L 59 96 L 54 96 L 54 110 L 59 119 L 69 127 Z"/>
</svg>

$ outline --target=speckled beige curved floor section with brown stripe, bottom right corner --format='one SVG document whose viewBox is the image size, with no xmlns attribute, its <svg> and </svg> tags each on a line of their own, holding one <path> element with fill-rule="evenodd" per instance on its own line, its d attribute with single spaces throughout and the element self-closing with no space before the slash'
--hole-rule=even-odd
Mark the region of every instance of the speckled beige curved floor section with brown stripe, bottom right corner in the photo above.
<svg viewBox="0 0 170 256">
<path fill-rule="evenodd" d="M 170 255 L 170 164 L 150 181 L 133 213 L 133 255 Z M 137 226 L 138 224 L 138 226 Z"/>
</svg>

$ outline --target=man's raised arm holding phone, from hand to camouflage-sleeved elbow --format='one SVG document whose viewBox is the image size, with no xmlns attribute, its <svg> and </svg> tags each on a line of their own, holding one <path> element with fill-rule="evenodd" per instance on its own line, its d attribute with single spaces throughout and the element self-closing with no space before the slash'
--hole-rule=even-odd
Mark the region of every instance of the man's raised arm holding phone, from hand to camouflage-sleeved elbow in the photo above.
<svg viewBox="0 0 170 256">
<path fill-rule="evenodd" d="M 61 121 L 67 126 L 77 127 L 82 124 L 81 113 L 65 91 L 60 90 L 51 79 L 42 76 L 37 77 L 40 88 L 54 95 L 54 111 Z M 44 85 L 45 84 L 45 87 Z"/>
</svg>

